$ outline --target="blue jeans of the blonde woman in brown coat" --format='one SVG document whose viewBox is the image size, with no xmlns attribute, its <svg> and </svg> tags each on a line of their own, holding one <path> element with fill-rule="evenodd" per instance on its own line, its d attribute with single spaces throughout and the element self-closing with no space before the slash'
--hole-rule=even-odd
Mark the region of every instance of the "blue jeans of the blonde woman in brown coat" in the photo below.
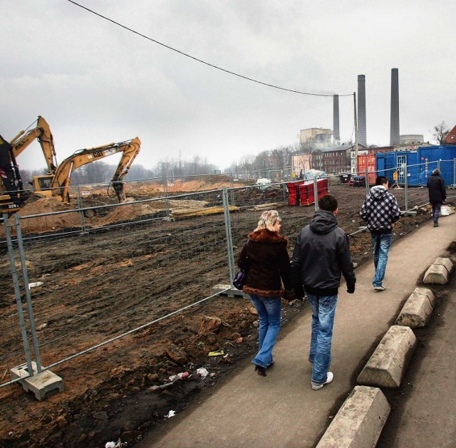
<svg viewBox="0 0 456 448">
<path fill-rule="evenodd" d="M 279 335 L 281 300 L 280 297 L 249 296 L 259 316 L 259 352 L 252 364 L 267 368 L 273 361 L 272 349 Z"/>
</svg>

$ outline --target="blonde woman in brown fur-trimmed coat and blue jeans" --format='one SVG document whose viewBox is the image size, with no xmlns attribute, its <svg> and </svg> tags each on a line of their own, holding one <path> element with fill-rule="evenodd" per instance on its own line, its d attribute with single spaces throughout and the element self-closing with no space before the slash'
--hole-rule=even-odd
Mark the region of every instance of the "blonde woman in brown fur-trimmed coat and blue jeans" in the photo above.
<svg viewBox="0 0 456 448">
<path fill-rule="evenodd" d="M 259 375 L 266 376 L 266 368 L 274 364 L 272 350 L 279 334 L 281 296 L 294 298 L 291 288 L 288 239 L 280 234 L 281 218 L 276 210 L 261 214 L 257 229 L 247 236 L 239 254 L 238 266 L 247 255 L 249 271 L 242 291 L 249 294 L 259 316 L 259 352 L 252 360 Z M 282 287 L 282 282 L 284 287 Z"/>
</svg>

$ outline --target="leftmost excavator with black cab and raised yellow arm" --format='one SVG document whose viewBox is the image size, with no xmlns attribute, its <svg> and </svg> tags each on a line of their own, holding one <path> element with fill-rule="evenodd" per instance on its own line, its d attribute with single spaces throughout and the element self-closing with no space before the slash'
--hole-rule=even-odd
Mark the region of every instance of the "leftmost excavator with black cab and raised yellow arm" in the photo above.
<svg viewBox="0 0 456 448">
<path fill-rule="evenodd" d="M 38 116 L 36 125 L 28 130 L 21 130 L 11 141 L 4 140 L 0 135 L 0 213 L 18 212 L 24 202 L 30 197 L 30 192 L 24 189 L 16 163 L 16 157 L 23 152 L 33 140 L 38 140 L 48 165 L 48 175 L 57 170 L 56 148 L 46 120 Z"/>
</svg>

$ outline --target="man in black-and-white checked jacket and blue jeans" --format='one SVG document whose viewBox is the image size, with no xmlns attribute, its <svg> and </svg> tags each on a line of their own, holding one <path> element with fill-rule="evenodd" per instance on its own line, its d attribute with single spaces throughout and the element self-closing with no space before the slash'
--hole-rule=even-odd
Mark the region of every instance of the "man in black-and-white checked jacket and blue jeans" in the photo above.
<svg viewBox="0 0 456 448">
<path fill-rule="evenodd" d="M 375 275 L 373 288 L 376 291 L 385 291 L 382 281 L 385 276 L 388 251 L 393 239 L 393 222 L 398 221 L 400 209 L 393 194 L 388 193 L 388 177 L 378 176 L 375 179 L 375 187 L 364 199 L 361 218 L 366 221 L 373 247 L 373 264 Z"/>
</svg>

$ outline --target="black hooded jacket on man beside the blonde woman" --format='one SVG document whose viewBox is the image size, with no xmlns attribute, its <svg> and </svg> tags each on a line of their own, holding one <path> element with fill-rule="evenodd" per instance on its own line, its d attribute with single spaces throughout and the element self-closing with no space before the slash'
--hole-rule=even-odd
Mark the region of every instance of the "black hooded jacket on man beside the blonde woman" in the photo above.
<svg viewBox="0 0 456 448">
<path fill-rule="evenodd" d="M 293 251 L 291 269 L 297 297 L 305 291 L 316 296 L 336 296 L 341 274 L 347 288 L 354 288 L 348 236 L 337 225 L 336 216 L 326 210 L 318 210 L 309 226 L 301 229 Z"/>
</svg>

